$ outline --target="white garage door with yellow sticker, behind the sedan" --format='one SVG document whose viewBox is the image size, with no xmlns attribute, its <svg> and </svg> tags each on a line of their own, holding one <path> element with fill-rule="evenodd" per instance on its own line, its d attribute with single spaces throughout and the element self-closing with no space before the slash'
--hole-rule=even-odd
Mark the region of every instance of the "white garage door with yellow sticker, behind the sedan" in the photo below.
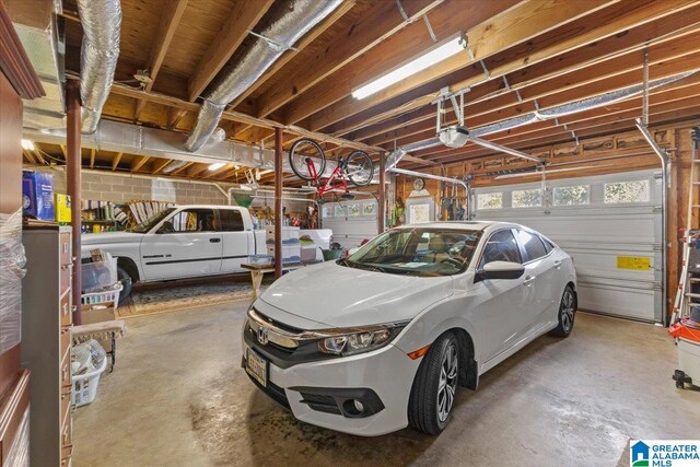
<svg viewBox="0 0 700 467">
<path fill-rule="evenodd" d="M 567 250 L 581 308 L 661 320 L 660 173 L 476 189 L 472 201 L 476 219 L 527 225 Z"/>
</svg>

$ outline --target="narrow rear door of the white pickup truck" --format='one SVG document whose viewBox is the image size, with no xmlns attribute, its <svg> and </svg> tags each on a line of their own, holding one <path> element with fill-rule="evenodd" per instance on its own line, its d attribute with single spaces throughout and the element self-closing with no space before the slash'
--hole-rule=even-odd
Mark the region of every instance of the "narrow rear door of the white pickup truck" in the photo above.
<svg viewBox="0 0 700 467">
<path fill-rule="evenodd" d="M 238 208 L 220 208 L 221 234 L 223 235 L 223 254 L 221 270 L 223 272 L 240 272 L 244 269 L 248 255 L 255 253 L 253 231 L 247 231 L 243 213 Z"/>
</svg>

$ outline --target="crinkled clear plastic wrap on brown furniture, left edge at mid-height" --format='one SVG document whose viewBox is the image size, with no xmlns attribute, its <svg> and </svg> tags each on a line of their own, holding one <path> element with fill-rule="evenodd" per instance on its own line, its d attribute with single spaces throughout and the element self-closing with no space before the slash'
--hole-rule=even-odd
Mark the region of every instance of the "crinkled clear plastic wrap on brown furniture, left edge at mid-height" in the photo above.
<svg viewBox="0 0 700 467">
<path fill-rule="evenodd" d="M 22 209 L 12 214 L 0 213 L 0 354 L 22 338 Z"/>
</svg>

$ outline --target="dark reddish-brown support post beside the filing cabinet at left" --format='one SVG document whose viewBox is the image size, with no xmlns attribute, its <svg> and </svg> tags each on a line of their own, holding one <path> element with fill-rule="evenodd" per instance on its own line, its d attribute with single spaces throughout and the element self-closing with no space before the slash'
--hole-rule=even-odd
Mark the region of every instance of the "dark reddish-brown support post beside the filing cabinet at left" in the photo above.
<svg viewBox="0 0 700 467">
<path fill-rule="evenodd" d="M 80 118 L 80 81 L 69 80 L 66 89 L 66 102 L 68 105 L 68 127 L 66 129 L 66 178 L 68 185 L 68 196 L 70 196 L 70 215 L 72 226 L 73 243 L 73 324 L 80 325 L 81 317 L 81 291 L 82 291 L 82 265 L 80 254 L 80 231 L 82 222 L 80 219 L 80 170 L 81 170 L 81 118 Z"/>
</svg>

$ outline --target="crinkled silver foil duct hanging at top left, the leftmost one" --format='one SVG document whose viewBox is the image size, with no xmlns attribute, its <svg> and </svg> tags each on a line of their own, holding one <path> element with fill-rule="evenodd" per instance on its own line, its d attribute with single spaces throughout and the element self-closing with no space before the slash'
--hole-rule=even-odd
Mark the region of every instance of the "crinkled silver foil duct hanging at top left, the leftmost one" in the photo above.
<svg viewBox="0 0 700 467">
<path fill-rule="evenodd" d="M 80 98 L 82 101 L 81 131 L 97 130 L 114 72 L 119 58 L 121 3 L 119 0 L 78 0 L 83 26 L 80 50 Z"/>
</svg>

